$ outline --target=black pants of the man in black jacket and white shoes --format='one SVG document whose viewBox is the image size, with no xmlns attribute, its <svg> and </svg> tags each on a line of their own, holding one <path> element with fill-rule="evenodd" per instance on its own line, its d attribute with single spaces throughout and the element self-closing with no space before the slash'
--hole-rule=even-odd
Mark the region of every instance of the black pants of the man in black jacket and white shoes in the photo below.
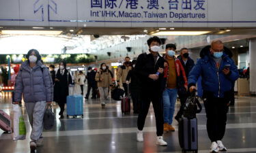
<svg viewBox="0 0 256 153">
<path fill-rule="evenodd" d="M 150 108 L 150 103 L 152 101 L 154 107 L 154 113 L 156 118 L 156 135 L 162 136 L 163 133 L 163 109 L 162 109 L 162 101 L 161 101 L 162 94 L 156 91 L 149 91 L 143 89 L 141 92 L 141 109 L 139 111 L 139 117 L 137 120 L 137 126 L 140 131 L 143 130 L 145 119 L 147 117 L 148 109 Z"/>
</svg>

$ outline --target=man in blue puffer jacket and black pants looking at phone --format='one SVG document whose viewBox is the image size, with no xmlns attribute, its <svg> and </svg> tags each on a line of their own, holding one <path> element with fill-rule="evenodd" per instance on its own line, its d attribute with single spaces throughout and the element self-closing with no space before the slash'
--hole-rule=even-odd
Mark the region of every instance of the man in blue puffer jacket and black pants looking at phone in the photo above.
<svg viewBox="0 0 256 153">
<path fill-rule="evenodd" d="M 204 48 L 200 56 L 189 73 L 188 86 L 190 92 L 195 90 L 195 84 L 201 75 L 207 132 L 212 141 L 210 152 L 227 151 L 221 139 L 226 129 L 231 86 L 238 79 L 238 69 L 226 54 L 221 40 L 212 41 L 210 48 Z"/>
</svg>

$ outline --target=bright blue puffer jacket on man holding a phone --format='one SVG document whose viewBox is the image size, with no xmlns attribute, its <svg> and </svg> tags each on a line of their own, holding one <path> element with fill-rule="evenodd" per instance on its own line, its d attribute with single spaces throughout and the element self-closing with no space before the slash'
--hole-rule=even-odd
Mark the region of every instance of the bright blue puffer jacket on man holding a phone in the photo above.
<svg viewBox="0 0 256 153">
<path fill-rule="evenodd" d="M 216 69 L 215 61 L 210 54 L 210 46 L 201 50 L 201 58 L 190 71 L 188 76 L 188 87 L 195 86 L 199 76 L 202 77 L 202 86 L 205 92 L 211 92 L 214 97 L 223 98 L 225 92 L 231 90 L 232 82 L 238 79 L 238 69 L 230 58 L 227 48 L 223 52 L 222 61 L 219 69 Z M 223 69 L 225 65 L 230 65 L 229 74 L 225 75 Z"/>
</svg>

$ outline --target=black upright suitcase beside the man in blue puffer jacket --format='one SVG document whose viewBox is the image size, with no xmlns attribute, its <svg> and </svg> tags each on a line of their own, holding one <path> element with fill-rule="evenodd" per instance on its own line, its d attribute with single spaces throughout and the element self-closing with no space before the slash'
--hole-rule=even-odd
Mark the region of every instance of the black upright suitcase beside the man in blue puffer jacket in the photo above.
<svg viewBox="0 0 256 153">
<path fill-rule="evenodd" d="M 197 118 L 180 118 L 178 134 L 182 152 L 198 152 Z"/>
</svg>

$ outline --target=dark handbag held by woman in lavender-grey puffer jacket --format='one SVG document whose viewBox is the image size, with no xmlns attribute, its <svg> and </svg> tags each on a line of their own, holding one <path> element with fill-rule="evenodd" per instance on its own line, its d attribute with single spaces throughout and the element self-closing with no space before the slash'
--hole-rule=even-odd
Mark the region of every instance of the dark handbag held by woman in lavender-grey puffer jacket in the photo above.
<svg viewBox="0 0 256 153">
<path fill-rule="evenodd" d="M 44 112 L 44 129 L 51 130 L 54 125 L 55 114 L 53 113 L 53 109 L 51 105 L 47 105 L 46 110 Z"/>
</svg>

